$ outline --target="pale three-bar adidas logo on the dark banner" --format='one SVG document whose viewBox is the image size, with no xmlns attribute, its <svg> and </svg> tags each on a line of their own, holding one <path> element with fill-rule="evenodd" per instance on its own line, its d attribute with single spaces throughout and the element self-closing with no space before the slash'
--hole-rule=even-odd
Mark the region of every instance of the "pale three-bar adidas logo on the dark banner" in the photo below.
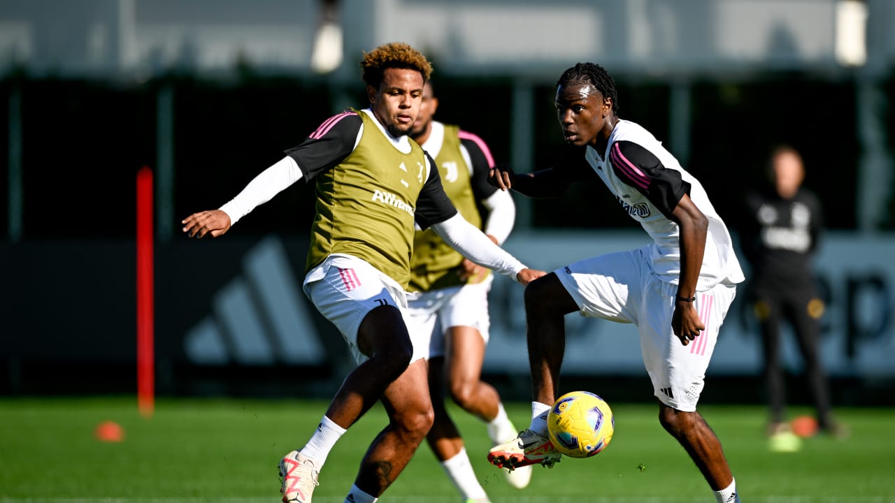
<svg viewBox="0 0 895 503">
<path fill-rule="evenodd" d="M 217 292 L 214 313 L 191 328 L 184 350 L 193 363 L 314 365 L 327 354 L 279 238 L 265 237 L 243 260 L 243 276 Z"/>
</svg>

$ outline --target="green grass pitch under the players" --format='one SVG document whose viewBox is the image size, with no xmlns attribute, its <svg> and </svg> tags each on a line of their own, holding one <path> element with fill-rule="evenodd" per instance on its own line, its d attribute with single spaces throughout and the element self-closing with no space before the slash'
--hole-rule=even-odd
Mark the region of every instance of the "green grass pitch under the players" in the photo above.
<svg viewBox="0 0 895 503">
<path fill-rule="evenodd" d="M 160 399 L 150 418 L 132 397 L 0 399 L 0 503 L 250 503 L 279 500 L 277 461 L 300 447 L 325 402 Z M 616 433 L 589 459 L 535 467 L 525 490 L 510 487 L 485 460 L 484 425 L 456 407 L 476 473 L 494 503 L 712 502 L 711 492 L 652 405 L 611 404 Z M 517 426 L 526 403 L 507 404 Z M 808 439 L 801 451 L 772 454 L 759 405 L 703 405 L 724 444 L 747 503 L 895 503 L 895 410 L 840 409 L 851 437 Z M 799 412 L 798 410 L 792 411 Z M 124 427 L 124 441 L 101 442 L 99 422 Z M 358 462 L 385 424 L 381 407 L 339 441 L 320 473 L 315 503 L 341 503 Z M 423 445 L 381 501 L 456 503 L 454 486 Z"/>
</svg>

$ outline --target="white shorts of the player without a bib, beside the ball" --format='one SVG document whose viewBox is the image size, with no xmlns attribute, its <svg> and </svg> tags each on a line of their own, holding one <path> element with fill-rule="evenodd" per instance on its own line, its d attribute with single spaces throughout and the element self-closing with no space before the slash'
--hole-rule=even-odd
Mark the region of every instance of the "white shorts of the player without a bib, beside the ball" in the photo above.
<svg viewBox="0 0 895 503">
<path fill-rule="evenodd" d="M 671 329 L 678 286 L 654 275 L 649 258 L 650 250 L 644 247 L 581 260 L 553 272 L 583 316 L 635 324 L 653 394 L 669 407 L 693 412 L 737 289 L 718 284 L 696 293 L 694 307 L 705 329 L 682 345 Z"/>
</svg>

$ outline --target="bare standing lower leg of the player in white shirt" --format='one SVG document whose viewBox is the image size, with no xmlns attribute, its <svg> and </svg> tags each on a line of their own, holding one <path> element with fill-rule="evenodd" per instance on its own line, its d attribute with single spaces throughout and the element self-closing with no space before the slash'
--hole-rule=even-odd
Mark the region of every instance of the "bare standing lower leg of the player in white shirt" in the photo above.
<svg viewBox="0 0 895 503">
<path fill-rule="evenodd" d="M 684 446 L 712 490 L 722 490 L 733 482 L 720 440 L 702 414 L 678 411 L 660 403 L 659 422 Z"/>
</svg>

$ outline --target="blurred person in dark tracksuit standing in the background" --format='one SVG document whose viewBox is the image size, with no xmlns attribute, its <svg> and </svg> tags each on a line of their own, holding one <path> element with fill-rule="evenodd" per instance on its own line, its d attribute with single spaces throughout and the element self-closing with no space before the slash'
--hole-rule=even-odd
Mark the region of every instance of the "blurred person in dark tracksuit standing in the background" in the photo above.
<svg viewBox="0 0 895 503">
<path fill-rule="evenodd" d="M 786 391 L 780 364 L 780 328 L 788 322 L 805 365 L 820 431 L 844 433 L 833 420 L 830 392 L 820 357 L 820 318 L 824 304 L 815 287 L 812 259 L 823 232 L 823 209 L 805 189 L 805 166 L 790 146 L 772 150 L 771 184 L 746 197 L 743 249 L 752 265 L 746 300 L 754 307 L 762 333 L 771 450 L 797 450 L 800 442 L 786 421 Z"/>
</svg>

